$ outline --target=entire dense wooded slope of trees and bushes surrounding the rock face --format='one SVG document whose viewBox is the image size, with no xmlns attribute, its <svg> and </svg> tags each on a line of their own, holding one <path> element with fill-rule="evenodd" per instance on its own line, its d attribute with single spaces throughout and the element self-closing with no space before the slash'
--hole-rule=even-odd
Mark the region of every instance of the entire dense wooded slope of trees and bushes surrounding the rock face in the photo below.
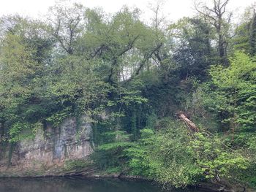
<svg viewBox="0 0 256 192">
<path fill-rule="evenodd" d="M 81 114 L 99 172 L 169 186 L 256 186 L 256 12 L 195 2 L 168 23 L 161 4 L 115 14 L 56 4 L 42 20 L 0 21 L 0 142 Z"/>
</svg>

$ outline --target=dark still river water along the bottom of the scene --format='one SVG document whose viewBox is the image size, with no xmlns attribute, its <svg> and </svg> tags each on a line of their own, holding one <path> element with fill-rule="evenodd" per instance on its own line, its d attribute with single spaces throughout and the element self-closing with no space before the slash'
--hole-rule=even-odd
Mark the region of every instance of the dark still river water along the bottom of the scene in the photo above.
<svg viewBox="0 0 256 192">
<path fill-rule="evenodd" d="M 172 192 L 198 190 L 172 190 Z M 142 181 L 85 179 L 81 177 L 5 178 L 0 192 L 166 192 Z"/>
</svg>

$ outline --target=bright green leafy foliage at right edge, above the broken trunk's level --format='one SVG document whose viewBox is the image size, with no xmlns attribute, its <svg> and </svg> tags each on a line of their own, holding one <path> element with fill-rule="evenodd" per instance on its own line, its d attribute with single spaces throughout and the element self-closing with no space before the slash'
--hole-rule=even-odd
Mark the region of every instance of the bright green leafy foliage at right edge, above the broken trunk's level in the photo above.
<svg viewBox="0 0 256 192">
<path fill-rule="evenodd" d="M 256 64 L 244 53 L 235 53 L 227 69 L 222 66 L 211 68 L 213 85 L 219 95 L 218 110 L 226 110 L 229 117 L 224 120 L 239 123 L 241 128 L 255 128 L 255 69 Z M 217 106 L 218 107 L 218 106 Z"/>
</svg>

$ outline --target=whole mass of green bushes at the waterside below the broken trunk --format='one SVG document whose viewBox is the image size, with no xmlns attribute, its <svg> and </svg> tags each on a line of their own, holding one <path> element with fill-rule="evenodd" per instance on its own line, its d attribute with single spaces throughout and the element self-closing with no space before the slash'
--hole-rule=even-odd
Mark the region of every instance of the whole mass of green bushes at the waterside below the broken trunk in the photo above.
<svg viewBox="0 0 256 192">
<path fill-rule="evenodd" d="M 143 129 L 136 145 L 124 150 L 131 174 L 167 186 L 184 187 L 200 180 L 241 180 L 249 159 L 222 143 L 219 136 L 187 135 L 187 128 L 162 120 L 160 131 Z"/>
</svg>

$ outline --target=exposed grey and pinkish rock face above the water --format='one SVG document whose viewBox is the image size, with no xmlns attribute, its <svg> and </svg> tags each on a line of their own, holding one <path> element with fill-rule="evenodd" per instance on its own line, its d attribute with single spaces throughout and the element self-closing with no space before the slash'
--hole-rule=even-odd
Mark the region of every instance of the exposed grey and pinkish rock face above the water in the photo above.
<svg viewBox="0 0 256 192">
<path fill-rule="evenodd" d="M 91 123 L 88 122 L 88 118 L 82 116 L 67 118 L 58 128 L 50 125 L 37 128 L 34 139 L 15 145 L 11 158 L 7 152 L 0 156 L 0 173 L 31 169 L 45 174 L 53 167 L 64 166 L 65 161 L 88 157 L 94 147 Z"/>
</svg>

